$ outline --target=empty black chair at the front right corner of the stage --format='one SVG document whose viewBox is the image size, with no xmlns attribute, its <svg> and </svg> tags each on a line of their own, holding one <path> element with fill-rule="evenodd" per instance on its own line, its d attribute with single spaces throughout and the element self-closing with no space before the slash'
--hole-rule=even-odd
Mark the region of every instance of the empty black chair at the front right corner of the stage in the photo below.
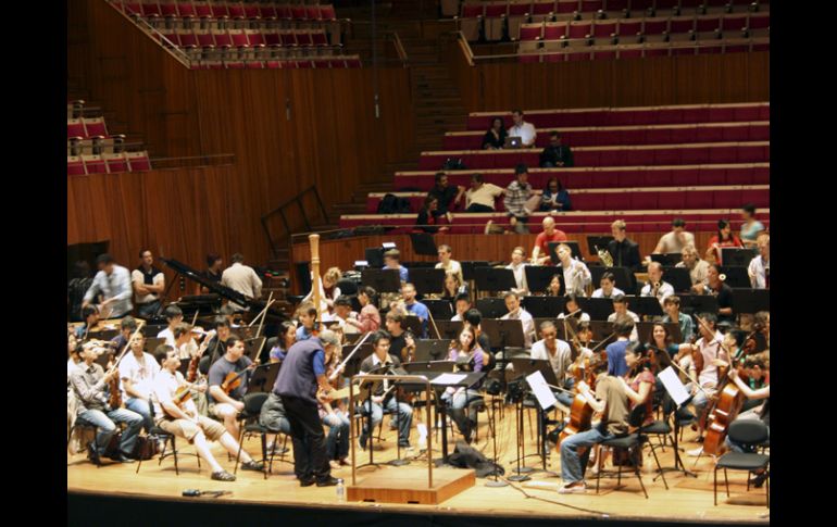
<svg viewBox="0 0 837 527">
<path fill-rule="evenodd" d="M 729 498 L 729 480 L 726 476 L 727 469 L 747 470 L 747 490 L 750 490 L 750 474 L 755 470 L 765 470 L 765 495 L 767 499 L 767 509 L 771 506 L 770 491 L 770 455 L 757 453 L 755 450 L 770 441 L 767 426 L 761 421 L 734 421 L 729 424 L 727 437 L 730 441 L 739 443 L 745 450 L 750 452 L 727 452 L 722 455 L 715 464 L 713 493 L 715 505 L 717 505 L 717 469 L 724 469 L 724 484 L 726 485 L 726 495 Z"/>
</svg>

